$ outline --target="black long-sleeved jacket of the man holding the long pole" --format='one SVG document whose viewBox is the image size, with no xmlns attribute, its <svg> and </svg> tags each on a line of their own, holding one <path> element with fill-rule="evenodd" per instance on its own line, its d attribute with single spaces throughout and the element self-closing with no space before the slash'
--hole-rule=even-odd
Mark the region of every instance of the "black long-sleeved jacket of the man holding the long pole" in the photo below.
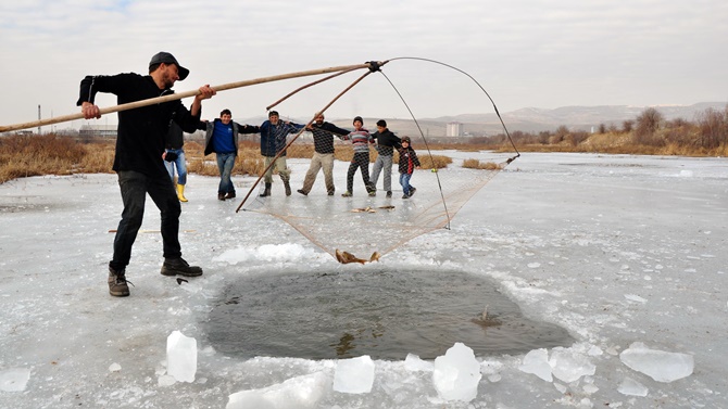
<svg viewBox="0 0 728 409">
<path fill-rule="evenodd" d="M 118 104 L 174 93 L 170 88 L 160 89 L 149 75 L 97 75 L 87 76 L 80 81 L 76 104 L 93 103 L 97 92 L 115 94 Z M 113 169 L 135 170 L 148 176 L 167 175 L 162 153 L 170 120 L 177 123 L 187 132 L 194 132 L 200 116 L 193 116 L 179 100 L 121 111 Z"/>
</svg>

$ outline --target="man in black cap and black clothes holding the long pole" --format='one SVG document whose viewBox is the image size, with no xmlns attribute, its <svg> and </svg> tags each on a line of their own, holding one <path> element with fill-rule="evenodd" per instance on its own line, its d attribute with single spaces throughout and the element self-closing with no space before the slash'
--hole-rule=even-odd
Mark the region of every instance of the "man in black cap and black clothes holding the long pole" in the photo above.
<svg viewBox="0 0 728 409">
<path fill-rule="evenodd" d="M 97 92 L 113 93 L 118 104 L 130 103 L 173 93 L 175 81 L 183 80 L 189 69 L 179 65 L 168 52 L 160 52 L 149 63 L 149 75 L 127 73 L 112 76 L 87 76 L 80 82 L 77 105 L 86 119 L 100 118 L 101 112 L 93 103 Z M 164 167 L 162 155 L 170 120 L 183 130 L 194 132 L 200 122 L 202 100 L 212 98 L 215 90 L 200 87 L 188 111 L 181 101 L 156 103 L 118 113 L 118 131 L 113 169 L 124 202 L 122 220 L 114 237 L 114 255 L 109 263 L 109 293 L 113 296 L 129 295 L 126 266 L 131 258 L 131 246 L 137 238 L 145 214 L 146 195 L 154 201 L 162 219 L 163 276 L 200 276 L 202 269 L 190 266 L 181 258 L 179 245 L 179 214 L 181 206 Z"/>
</svg>

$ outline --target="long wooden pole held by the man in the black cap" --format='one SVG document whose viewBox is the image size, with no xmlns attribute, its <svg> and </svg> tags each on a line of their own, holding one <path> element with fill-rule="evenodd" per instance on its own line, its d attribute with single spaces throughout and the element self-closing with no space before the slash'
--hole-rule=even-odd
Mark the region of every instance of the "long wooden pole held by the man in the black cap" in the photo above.
<svg viewBox="0 0 728 409">
<path fill-rule="evenodd" d="M 379 63 L 379 64 L 381 64 L 381 63 Z M 263 78 L 248 79 L 248 80 L 244 80 L 244 81 L 224 84 L 222 86 L 212 87 L 212 89 L 219 92 L 219 91 L 234 89 L 234 88 L 249 87 L 249 86 L 253 86 L 253 85 L 256 85 L 256 84 L 279 81 L 281 79 L 300 78 L 300 77 L 307 77 L 307 76 L 312 76 L 312 75 L 329 74 L 329 73 L 336 73 L 336 72 L 342 72 L 342 71 L 353 71 L 353 69 L 360 69 L 360 68 L 372 69 L 373 68 L 373 63 L 342 65 L 342 66 L 336 66 L 336 67 L 329 67 L 329 68 L 310 69 L 310 71 L 302 71 L 302 72 L 298 72 L 298 73 L 274 75 L 272 77 L 263 77 Z M 148 100 L 135 101 L 135 102 L 129 102 L 129 103 L 126 103 L 126 104 L 104 107 L 104 108 L 100 110 L 100 113 L 101 113 L 101 115 L 104 115 L 104 114 L 110 114 L 110 113 L 114 113 L 114 112 L 133 110 L 133 108 L 141 107 L 141 106 L 160 104 L 160 103 L 163 103 L 163 102 L 181 100 L 183 98 L 196 97 L 198 93 L 200 93 L 200 90 L 186 91 L 186 92 L 173 93 L 173 94 L 168 94 L 168 95 L 164 95 L 164 97 L 150 98 Z M 77 113 L 77 114 L 71 114 L 71 115 L 64 115 L 64 116 L 57 116 L 54 118 L 34 120 L 32 123 L 0 126 L 0 132 L 8 132 L 8 131 L 11 131 L 11 130 L 27 129 L 27 128 L 35 128 L 35 127 L 46 126 L 46 125 L 66 123 L 66 122 L 70 122 L 70 120 L 75 120 L 75 119 L 84 119 L 84 114 L 83 113 Z"/>
</svg>

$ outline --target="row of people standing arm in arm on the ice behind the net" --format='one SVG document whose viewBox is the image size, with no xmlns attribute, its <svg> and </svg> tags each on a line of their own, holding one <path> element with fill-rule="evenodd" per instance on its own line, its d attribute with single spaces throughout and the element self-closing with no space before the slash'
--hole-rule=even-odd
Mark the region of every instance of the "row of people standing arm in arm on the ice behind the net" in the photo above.
<svg viewBox="0 0 728 409">
<path fill-rule="evenodd" d="M 329 196 L 335 194 L 334 138 L 337 137 L 341 140 L 351 141 L 354 150 L 354 155 L 347 172 L 347 191 L 342 196 L 350 197 L 353 195 L 354 176 L 357 170 L 361 170 L 362 180 L 369 196 L 376 196 L 377 180 L 379 179 L 379 175 L 382 175 L 384 190 L 387 192 L 387 197 L 391 197 L 391 169 L 394 150 L 400 153 L 400 184 L 404 192 L 402 199 L 409 199 L 414 194 L 416 189 L 411 189 L 409 181 L 414 169 L 419 167 L 419 159 L 411 146 L 409 137 L 404 137 L 403 139 L 397 137 L 387 128 L 387 122 L 384 119 L 377 122 L 377 131 L 369 133 L 363 127 L 364 119 L 361 116 L 354 118 L 352 123 L 354 126 L 353 131 L 339 128 L 331 123 L 325 122 L 324 118 L 323 113 L 316 113 L 314 120 L 306 127 L 306 130 L 313 133 L 314 154 L 303 179 L 303 187 L 298 189 L 297 192 L 304 196 L 309 195 L 316 181 L 316 176 L 323 170 L 326 192 Z M 300 131 L 303 127 L 304 125 L 301 124 L 281 120 L 276 111 L 271 111 L 268 113 L 268 120 L 264 122 L 260 127 L 240 125 L 233 122 L 229 110 L 224 110 L 221 113 L 221 118 L 212 123 L 200 122 L 199 129 L 206 130 L 204 154 L 208 155 L 214 152 L 217 156 L 217 166 L 221 175 L 217 199 L 224 201 L 236 196 L 230 175 L 235 157 L 237 156 L 238 135 L 259 132 L 261 133 L 261 154 L 264 157 L 264 167 L 267 169 L 263 179 L 265 183 L 264 190 L 260 196 L 265 197 L 271 195 L 274 170 L 277 170 L 284 183 L 286 195 L 290 196 L 290 169 L 286 164 L 287 136 Z M 406 143 L 402 144 L 404 140 L 406 140 Z M 372 177 L 369 178 L 371 144 L 376 144 L 378 155 L 372 167 Z M 184 188 L 181 191 L 184 192 Z"/>
</svg>

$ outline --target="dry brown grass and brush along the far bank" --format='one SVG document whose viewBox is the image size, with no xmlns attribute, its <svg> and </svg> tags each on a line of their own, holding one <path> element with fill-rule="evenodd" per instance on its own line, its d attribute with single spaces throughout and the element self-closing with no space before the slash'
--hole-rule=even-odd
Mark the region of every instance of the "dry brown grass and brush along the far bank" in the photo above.
<svg viewBox="0 0 728 409">
<path fill-rule="evenodd" d="M 565 138 L 556 143 L 518 143 L 520 152 L 591 152 L 606 154 L 636 154 L 636 155 L 681 155 L 681 156 L 728 156 L 728 145 L 721 144 L 715 149 L 702 149 L 694 145 L 666 143 L 664 145 L 648 145 L 636 143 L 630 133 L 597 133 L 590 135 L 576 143 Z M 510 143 L 501 145 L 487 144 L 430 144 L 430 151 L 457 150 L 482 151 L 492 150 L 513 153 Z M 369 161 L 377 157 L 372 150 Z M 188 171 L 204 176 L 218 176 L 217 162 L 214 154 L 204 156 L 203 146 L 198 141 L 188 141 L 185 144 L 185 154 Z M 431 155 L 425 149 L 417 151 L 423 168 L 444 168 L 452 164 L 452 158 L 445 155 Z M 287 152 L 289 158 L 310 158 L 313 156 L 311 142 L 293 143 Z M 337 161 L 350 162 L 353 149 L 350 144 L 337 145 L 335 157 Z M 70 137 L 55 135 L 45 136 L 5 136 L 0 138 L 0 183 L 21 177 L 40 175 L 71 175 L 71 174 L 100 174 L 112 172 L 114 159 L 114 141 L 108 139 L 80 143 Z M 393 162 L 399 159 L 397 153 Z M 467 159 L 464 167 L 473 169 L 497 169 L 498 164 L 480 163 L 477 159 Z M 260 143 L 242 141 L 239 143 L 238 156 L 234 175 L 261 175 L 264 170 L 263 157 L 260 153 Z"/>
</svg>

